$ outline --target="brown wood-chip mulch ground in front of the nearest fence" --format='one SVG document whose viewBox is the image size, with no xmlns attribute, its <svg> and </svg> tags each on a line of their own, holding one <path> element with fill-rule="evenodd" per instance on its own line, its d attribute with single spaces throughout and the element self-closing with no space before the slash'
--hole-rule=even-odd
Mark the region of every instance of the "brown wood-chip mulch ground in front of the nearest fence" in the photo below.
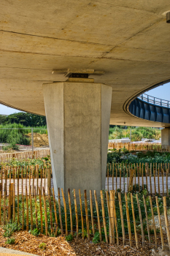
<svg viewBox="0 0 170 256">
<path fill-rule="evenodd" d="M 22 252 L 29 252 L 35 255 L 62 255 L 62 256 L 91 256 L 91 255 L 125 255 L 125 256 L 133 256 L 133 255 L 152 255 L 152 249 L 149 246 L 144 246 L 142 248 L 139 245 L 139 249 L 136 249 L 126 245 L 120 246 L 117 245 L 107 245 L 104 242 L 99 244 L 93 244 L 92 241 L 88 241 L 87 239 L 83 240 L 82 238 L 74 238 L 72 242 L 67 242 L 64 236 L 58 236 L 57 238 L 45 236 L 40 234 L 39 236 L 32 236 L 31 233 L 27 231 L 18 231 L 15 232 L 12 237 L 15 237 L 15 244 L 5 244 L 7 238 L 2 236 L 3 230 L 0 228 L 0 246 L 16 249 Z M 39 249 L 39 244 L 45 243 L 46 249 Z"/>
</svg>

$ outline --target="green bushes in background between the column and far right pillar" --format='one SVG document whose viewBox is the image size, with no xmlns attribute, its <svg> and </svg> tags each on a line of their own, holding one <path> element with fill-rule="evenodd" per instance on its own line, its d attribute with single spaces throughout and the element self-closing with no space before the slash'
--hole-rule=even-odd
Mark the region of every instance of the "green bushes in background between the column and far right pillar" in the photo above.
<svg viewBox="0 0 170 256">
<path fill-rule="evenodd" d="M 131 133 L 131 134 L 130 134 Z M 131 141 L 139 141 L 142 138 L 159 140 L 161 138 L 161 129 L 151 127 L 120 127 L 109 128 L 109 140 L 130 138 Z"/>
</svg>

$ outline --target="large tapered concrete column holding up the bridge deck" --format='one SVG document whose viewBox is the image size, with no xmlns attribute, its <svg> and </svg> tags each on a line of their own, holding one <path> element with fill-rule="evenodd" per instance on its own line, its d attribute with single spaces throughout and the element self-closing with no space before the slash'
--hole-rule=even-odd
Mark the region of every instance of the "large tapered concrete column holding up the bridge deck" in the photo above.
<svg viewBox="0 0 170 256">
<path fill-rule="evenodd" d="M 43 85 L 55 194 L 57 188 L 105 188 L 112 87 L 101 83 Z"/>
</svg>

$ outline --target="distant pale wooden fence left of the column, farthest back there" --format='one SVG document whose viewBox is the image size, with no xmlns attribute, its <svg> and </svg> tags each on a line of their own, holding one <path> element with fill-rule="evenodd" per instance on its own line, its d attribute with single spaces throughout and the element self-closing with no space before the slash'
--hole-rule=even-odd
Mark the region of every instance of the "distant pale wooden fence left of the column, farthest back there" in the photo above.
<svg viewBox="0 0 170 256">
<path fill-rule="evenodd" d="M 23 151 L 23 152 L 17 152 L 17 153 L 5 153 L 0 154 L 0 161 L 1 162 L 9 162 L 10 159 L 32 159 L 32 158 L 41 158 L 41 157 L 47 157 L 50 155 L 50 149 L 41 149 L 36 150 L 34 152 L 32 151 Z"/>
</svg>

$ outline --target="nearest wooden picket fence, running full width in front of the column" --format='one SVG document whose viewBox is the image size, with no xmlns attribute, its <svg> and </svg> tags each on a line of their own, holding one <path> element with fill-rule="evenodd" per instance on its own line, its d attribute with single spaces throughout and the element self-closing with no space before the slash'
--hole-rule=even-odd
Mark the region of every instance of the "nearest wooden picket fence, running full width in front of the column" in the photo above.
<svg viewBox="0 0 170 256">
<path fill-rule="evenodd" d="M 37 228 L 47 236 L 61 232 L 62 236 L 72 234 L 90 239 L 98 233 L 98 241 L 105 240 L 107 244 L 128 244 L 136 248 L 152 244 L 155 248 L 170 248 L 166 197 L 156 196 L 153 210 L 151 195 L 149 200 L 144 195 L 139 200 L 137 193 L 125 193 L 123 201 L 123 195 L 115 190 L 100 191 L 98 194 L 96 190 L 90 190 L 89 194 L 85 190 L 82 195 L 80 189 L 78 192 L 73 189 L 72 196 L 70 190 L 64 194 L 59 188 L 58 195 L 54 189 L 48 189 L 46 194 L 44 188 L 41 192 L 40 187 L 33 190 L 31 186 L 26 186 L 25 194 L 22 192 L 22 195 L 15 196 L 15 185 L 9 184 L 9 195 L 4 191 L 2 196 L 0 192 L 0 224 L 5 225 L 12 220 L 18 222 L 22 230 Z M 163 200 L 163 208 L 160 207 L 160 200 Z M 158 215 L 159 232 L 154 213 Z"/>
</svg>

